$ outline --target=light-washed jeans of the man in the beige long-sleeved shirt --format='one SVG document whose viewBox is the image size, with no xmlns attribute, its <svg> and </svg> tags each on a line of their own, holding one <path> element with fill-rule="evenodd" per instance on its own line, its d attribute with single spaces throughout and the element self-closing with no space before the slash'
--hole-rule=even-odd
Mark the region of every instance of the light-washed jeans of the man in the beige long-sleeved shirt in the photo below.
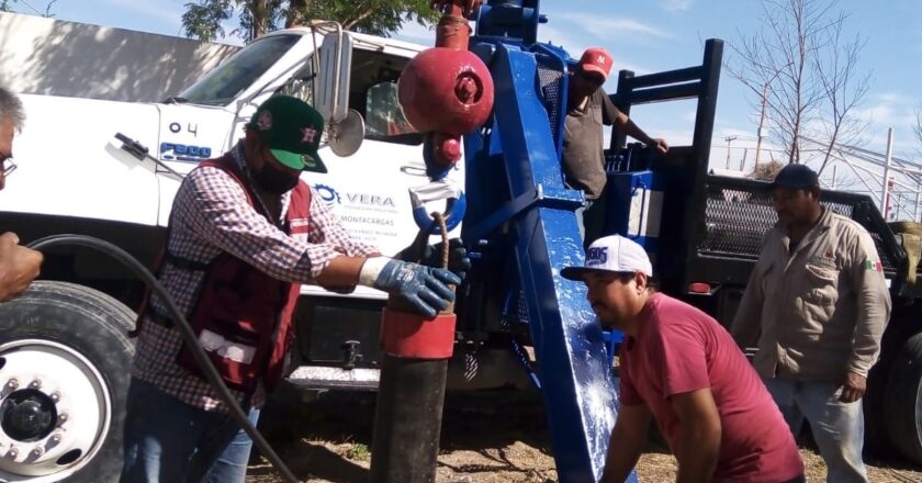
<svg viewBox="0 0 922 483">
<path fill-rule="evenodd" d="M 827 482 L 867 482 L 867 470 L 862 461 L 864 413 L 861 401 L 839 401 L 842 385 L 831 382 L 776 378 L 766 379 L 765 386 L 795 437 L 805 418 L 810 424 L 827 464 Z"/>
</svg>

